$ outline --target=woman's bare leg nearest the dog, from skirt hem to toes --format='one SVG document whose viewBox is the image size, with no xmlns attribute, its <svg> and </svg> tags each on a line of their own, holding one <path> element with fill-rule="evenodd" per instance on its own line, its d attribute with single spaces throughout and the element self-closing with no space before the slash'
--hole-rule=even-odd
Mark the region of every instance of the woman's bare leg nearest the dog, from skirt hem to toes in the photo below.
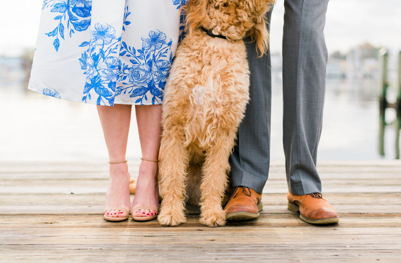
<svg viewBox="0 0 401 263">
<path fill-rule="evenodd" d="M 158 159 L 161 135 L 161 105 L 136 105 L 136 122 L 142 157 Z M 159 206 L 159 188 L 157 185 L 158 163 L 142 160 L 136 184 L 134 206 Z M 152 216 L 154 210 L 135 210 L 133 216 Z"/>
</svg>

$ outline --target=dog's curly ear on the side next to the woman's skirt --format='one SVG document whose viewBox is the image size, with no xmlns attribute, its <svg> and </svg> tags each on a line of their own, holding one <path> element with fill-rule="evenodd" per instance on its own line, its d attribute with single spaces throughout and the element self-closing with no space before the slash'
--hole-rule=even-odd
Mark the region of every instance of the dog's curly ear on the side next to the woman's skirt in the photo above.
<svg viewBox="0 0 401 263">
<path fill-rule="evenodd" d="M 209 0 L 190 0 L 182 7 L 186 14 L 185 29 L 189 33 L 198 28 L 207 26 L 211 20 L 208 16 L 208 2 Z"/>
</svg>

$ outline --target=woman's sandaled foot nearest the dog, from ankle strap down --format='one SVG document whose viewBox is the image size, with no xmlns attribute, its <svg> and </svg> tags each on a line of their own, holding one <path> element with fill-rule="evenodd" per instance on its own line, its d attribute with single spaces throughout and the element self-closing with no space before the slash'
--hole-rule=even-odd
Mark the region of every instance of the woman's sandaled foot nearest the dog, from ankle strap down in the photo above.
<svg viewBox="0 0 401 263">
<path fill-rule="evenodd" d="M 158 163 L 142 160 L 136 184 L 136 193 L 131 209 L 135 206 L 159 207 L 159 187 L 157 185 Z M 155 210 L 132 210 L 132 216 L 154 216 Z"/>
</svg>

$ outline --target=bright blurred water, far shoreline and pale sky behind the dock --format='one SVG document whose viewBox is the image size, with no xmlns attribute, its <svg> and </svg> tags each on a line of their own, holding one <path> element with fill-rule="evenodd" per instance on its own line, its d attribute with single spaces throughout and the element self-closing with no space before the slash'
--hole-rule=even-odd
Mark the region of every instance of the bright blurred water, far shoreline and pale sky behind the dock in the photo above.
<svg viewBox="0 0 401 263">
<path fill-rule="evenodd" d="M 394 13 L 394 6 L 392 6 L 389 9 L 390 13 L 381 14 L 382 20 L 377 22 L 378 24 L 387 23 L 388 26 L 392 26 L 388 32 L 397 36 L 398 39 L 394 38 L 396 43 L 390 42 L 384 37 L 381 38 L 381 41 L 375 38 L 372 40 L 370 36 L 372 31 L 361 24 L 363 24 L 363 19 L 371 20 L 370 15 L 375 12 L 374 7 L 377 7 L 377 2 L 370 0 L 363 2 L 359 0 L 336 1 L 331 2 L 333 3 L 330 4 L 331 6 L 329 5 L 325 31 L 330 57 L 327 65 L 326 100 L 318 159 L 394 159 L 396 157 L 395 135 L 399 131 L 396 130 L 395 124 L 392 124 L 396 119 L 396 113 L 393 109 L 386 110 L 386 122 L 390 125 L 385 128 L 384 154 L 379 153 L 378 147 L 378 51 L 382 47 L 389 48 L 388 79 L 390 86 L 387 99 L 390 102 L 395 102 L 397 57 L 399 48 L 401 48 L 401 41 L 398 37 L 401 36 L 399 34 L 401 24 L 394 25 L 394 21 L 390 18 L 395 16 L 399 20 L 401 11 L 397 9 Z M 23 2 L 27 4 L 26 9 L 29 9 L 29 11 L 25 11 L 27 14 L 35 10 L 32 21 L 30 21 L 30 29 L 37 32 L 41 1 L 24 0 Z M 395 7 L 401 7 L 395 1 L 384 2 L 391 2 L 395 4 Z M 347 9 L 341 9 L 342 5 L 357 7 L 358 3 L 364 4 L 365 13 L 360 11 L 353 18 L 344 15 L 352 15 L 352 12 L 347 13 Z M 273 12 L 271 29 L 273 70 L 272 160 L 284 160 L 282 147 L 282 60 L 280 53 L 282 16 L 284 14 L 282 5 L 282 1 L 278 1 Z M 38 10 L 33 9 L 34 7 Z M 0 13 L 2 12 L 4 14 L 0 15 L 6 14 L 5 11 L 0 11 Z M 392 14 L 392 17 L 388 14 Z M 354 32 L 355 35 L 360 35 L 356 40 L 352 38 L 352 32 L 350 33 L 350 30 L 345 28 L 349 21 L 352 19 L 355 21 L 355 17 L 358 19 L 356 26 L 359 25 L 361 29 Z M 12 30 L 10 31 L 7 23 L 9 20 L 6 21 L 4 16 L 0 16 L 0 35 L 2 36 L 11 34 Z M 13 28 L 14 24 L 9 24 Z M 343 30 L 337 29 L 336 25 L 342 25 Z M 8 42 L 8 38 L 0 39 L 0 160 L 107 161 L 107 149 L 94 105 L 56 99 L 27 89 L 36 39 L 36 32 L 32 33 L 32 30 L 25 35 L 28 39 L 25 46 L 18 48 L 14 48 L 10 44 L 11 42 Z M 382 32 L 377 31 L 376 33 L 380 35 Z M 347 34 L 350 36 L 347 37 Z M 372 44 L 367 43 L 367 40 Z M 343 44 L 344 41 L 348 41 L 347 45 Z M 139 158 L 140 144 L 133 112 L 127 159 L 136 160 Z"/>
</svg>

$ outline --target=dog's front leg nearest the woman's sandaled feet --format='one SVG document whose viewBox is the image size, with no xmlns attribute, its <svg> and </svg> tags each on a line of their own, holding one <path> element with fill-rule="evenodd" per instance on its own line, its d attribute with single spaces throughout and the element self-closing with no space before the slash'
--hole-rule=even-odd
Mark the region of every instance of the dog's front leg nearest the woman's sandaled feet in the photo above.
<svg viewBox="0 0 401 263">
<path fill-rule="evenodd" d="M 184 135 L 167 127 L 163 131 L 160 145 L 160 212 L 157 217 L 161 225 L 185 223 L 185 183 L 188 165 L 188 150 L 183 145 Z"/>
</svg>

